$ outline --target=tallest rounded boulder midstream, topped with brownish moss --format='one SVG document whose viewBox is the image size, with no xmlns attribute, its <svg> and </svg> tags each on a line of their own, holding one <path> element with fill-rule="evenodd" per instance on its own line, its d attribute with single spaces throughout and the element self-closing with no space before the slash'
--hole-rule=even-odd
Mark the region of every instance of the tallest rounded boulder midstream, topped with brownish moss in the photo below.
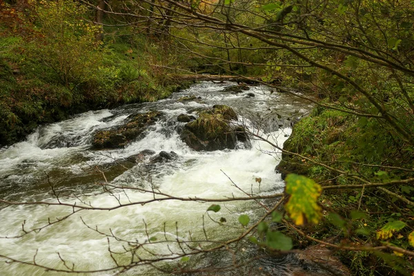
<svg viewBox="0 0 414 276">
<path fill-rule="evenodd" d="M 210 110 L 199 113 L 195 121 L 184 126 L 181 139 L 194 150 L 224 150 L 233 149 L 237 145 L 237 137 L 241 131 L 230 124 L 237 120 L 235 111 L 228 107 L 217 105 Z"/>
</svg>

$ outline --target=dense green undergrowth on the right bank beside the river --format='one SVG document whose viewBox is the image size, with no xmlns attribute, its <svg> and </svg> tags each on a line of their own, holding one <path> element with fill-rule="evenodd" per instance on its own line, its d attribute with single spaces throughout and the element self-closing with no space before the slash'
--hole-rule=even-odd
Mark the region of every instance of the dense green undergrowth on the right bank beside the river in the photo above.
<svg viewBox="0 0 414 276">
<path fill-rule="evenodd" d="M 386 132 L 377 120 L 337 110 L 315 108 L 294 126 L 284 149 L 301 156 L 284 153 L 278 169 L 284 175 L 295 172 L 311 177 L 322 187 L 360 184 L 351 177 L 355 174 L 377 183 L 414 176 L 414 158 L 404 141 Z M 391 186 L 389 190 L 414 198 L 414 188 L 409 184 Z M 382 226 L 403 220 L 408 227 L 391 235 L 388 242 L 409 250 L 406 237 L 413 230 L 414 210 L 397 197 L 375 188 L 326 190 L 319 203 L 324 219 L 317 226 L 305 226 L 302 230 L 307 235 L 335 239 L 344 246 L 380 246 L 377 233 Z M 313 244 L 295 231 L 288 232 L 296 237 L 299 247 Z M 396 271 L 406 275 L 414 268 L 411 257 L 399 253 L 339 250 L 336 255 L 355 275 L 395 275 Z"/>
</svg>

